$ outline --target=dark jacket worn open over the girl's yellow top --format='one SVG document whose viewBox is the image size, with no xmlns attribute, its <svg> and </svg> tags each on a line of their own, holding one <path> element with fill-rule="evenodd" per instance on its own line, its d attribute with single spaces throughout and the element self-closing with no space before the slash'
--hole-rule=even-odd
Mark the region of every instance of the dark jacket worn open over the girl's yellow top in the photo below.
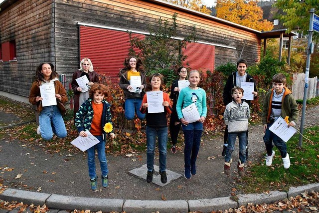
<svg viewBox="0 0 319 213">
<path fill-rule="evenodd" d="M 120 71 L 120 88 L 123 89 L 124 91 L 124 100 L 128 99 L 128 98 L 143 98 L 145 95 L 145 88 L 146 88 L 146 73 L 145 71 L 140 71 L 140 75 L 141 75 L 141 81 L 142 84 L 144 85 L 144 89 L 142 89 L 142 92 L 140 94 L 138 93 L 133 93 L 130 92 L 127 87 L 130 85 L 128 78 L 128 69 L 127 68 L 123 68 Z"/>
</svg>

